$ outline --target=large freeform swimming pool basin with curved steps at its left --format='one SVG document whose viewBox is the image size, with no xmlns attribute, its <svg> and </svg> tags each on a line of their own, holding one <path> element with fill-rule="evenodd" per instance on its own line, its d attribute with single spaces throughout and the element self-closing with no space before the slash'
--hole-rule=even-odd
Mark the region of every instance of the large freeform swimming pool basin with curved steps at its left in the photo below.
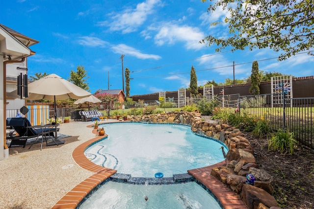
<svg viewBox="0 0 314 209">
<path fill-rule="evenodd" d="M 87 148 L 93 163 L 133 177 L 164 177 L 186 173 L 224 160 L 222 143 L 195 135 L 189 126 L 178 124 L 109 123 L 107 139 Z"/>
</svg>

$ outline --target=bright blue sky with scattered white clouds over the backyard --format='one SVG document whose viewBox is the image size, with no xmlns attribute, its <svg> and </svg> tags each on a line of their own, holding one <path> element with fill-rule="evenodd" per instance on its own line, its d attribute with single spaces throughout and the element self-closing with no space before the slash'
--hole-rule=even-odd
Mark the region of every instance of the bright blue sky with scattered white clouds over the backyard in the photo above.
<svg viewBox="0 0 314 209">
<path fill-rule="evenodd" d="M 210 27 L 228 15 L 207 13 L 201 0 L 11 0 L 0 7 L 0 23 L 40 43 L 30 48 L 28 74 L 55 73 L 65 79 L 84 66 L 91 93 L 122 89 L 124 69 L 131 71 L 131 95 L 187 88 L 194 66 L 198 85 L 214 79 L 247 78 L 255 60 L 280 52 L 249 49 L 218 54 L 215 46 L 199 44 L 209 34 L 228 36 L 227 25 Z M 248 64 L 243 64 L 248 63 Z M 314 57 L 306 53 L 286 61 L 259 61 L 263 71 L 293 76 L 314 75 Z"/>
</svg>

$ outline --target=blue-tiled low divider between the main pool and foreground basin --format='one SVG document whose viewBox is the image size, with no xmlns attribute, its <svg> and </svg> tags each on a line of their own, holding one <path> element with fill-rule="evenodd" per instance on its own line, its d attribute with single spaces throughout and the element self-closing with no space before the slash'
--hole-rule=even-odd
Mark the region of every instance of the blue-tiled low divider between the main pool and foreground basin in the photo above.
<svg viewBox="0 0 314 209">
<path fill-rule="evenodd" d="M 174 174 L 173 177 L 162 177 L 162 178 L 142 178 L 142 177 L 131 177 L 131 174 L 115 173 L 110 177 L 111 181 L 128 183 L 134 185 L 170 185 L 184 182 L 194 181 L 194 178 L 188 173 Z"/>
</svg>

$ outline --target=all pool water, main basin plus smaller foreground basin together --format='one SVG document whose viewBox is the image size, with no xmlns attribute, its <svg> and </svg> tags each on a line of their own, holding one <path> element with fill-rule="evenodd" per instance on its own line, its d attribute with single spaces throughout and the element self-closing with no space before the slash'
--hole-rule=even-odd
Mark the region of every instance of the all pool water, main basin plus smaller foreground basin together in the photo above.
<svg viewBox="0 0 314 209">
<path fill-rule="evenodd" d="M 79 209 L 222 208 L 211 192 L 203 188 L 205 186 L 199 186 L 193 180 L 181 184 L 151 184 L 154 179 L 159 179 L 151 178 L 156 172 L 164 173 L 164 178 L 160 179 L 172 179 L 170 176 L 174 179 L 176 175 L 188 175 L 189 169 L 223 161 L 219 150 L 222 143 L 197 136 L 189 126 L 177 124 L 123 122 L 100 126 L 105 128 L 108 138 L 90 145 L 85 156 L 96 164 L 116 169 L 120 174 L 146 177 L 134 178 L 145 181 L 145 184 L 106 180 L 81 202 Z"/>
</svg>

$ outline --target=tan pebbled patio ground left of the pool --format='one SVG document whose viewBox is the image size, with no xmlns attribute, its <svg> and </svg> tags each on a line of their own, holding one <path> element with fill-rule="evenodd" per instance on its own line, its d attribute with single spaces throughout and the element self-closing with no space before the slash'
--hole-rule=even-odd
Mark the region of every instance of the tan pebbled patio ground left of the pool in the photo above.
<svg viewBox="0 0 314 209">
<path fill-rule="evenodd" d="M 73 187 L 93 173 L 79 167 L 72 158 L 73 150 L 84 141 L 95 137 L 87 125 L 92 122 L 71 121 L 59 126 L 59 133 L 76 140 L 62 146 L 28 150 L 9 155 L 0 161 L 0 209 L 51 209 Z M 34 145 L 33 145 L 34 146 Z M 37 146 L 38 147 L 38 146 Z M 20 148 L 20 147 L 19 147 Z M 12 149 L 12 150 L 11 150 Z M 14 149 L 10 148 L 10 153 Z"/>
</svg>

